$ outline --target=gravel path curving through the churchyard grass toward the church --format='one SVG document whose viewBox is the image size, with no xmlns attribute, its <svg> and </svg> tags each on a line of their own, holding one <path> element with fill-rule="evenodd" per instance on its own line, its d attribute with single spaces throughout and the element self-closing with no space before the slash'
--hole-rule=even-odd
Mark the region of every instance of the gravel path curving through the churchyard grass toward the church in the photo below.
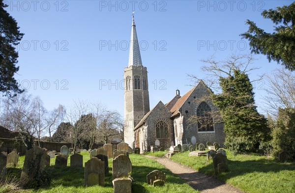
<svg viewBox="0 0 295 193">
<path fill-rule="evenodd" d="M 241 190 L 226 184 L 213 176 L 207 176 L 202 174 L 191 167 L 178 164 L 166 157 L 157 158 L 152 156 L 146 156 L 152 158 L 164 165 L 172 173 L 179 175 L 195 190 L 199 190 L 201 193 L 243 193 Z"/>
</svg>

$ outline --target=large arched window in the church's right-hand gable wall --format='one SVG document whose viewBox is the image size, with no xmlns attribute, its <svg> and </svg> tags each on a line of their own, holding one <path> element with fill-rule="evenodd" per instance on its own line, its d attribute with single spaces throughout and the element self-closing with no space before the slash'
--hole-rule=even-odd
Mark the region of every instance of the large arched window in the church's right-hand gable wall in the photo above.
<svg viewBox="0 0 295 193">
<path fill-rule="evenodd" d="M 198 117 L 198 131 L 199 132 L 212 132 L 213 127 L 213 117 L 212 111 L 206 102 L 202 102 L 197 108 Z"/>
</svg>

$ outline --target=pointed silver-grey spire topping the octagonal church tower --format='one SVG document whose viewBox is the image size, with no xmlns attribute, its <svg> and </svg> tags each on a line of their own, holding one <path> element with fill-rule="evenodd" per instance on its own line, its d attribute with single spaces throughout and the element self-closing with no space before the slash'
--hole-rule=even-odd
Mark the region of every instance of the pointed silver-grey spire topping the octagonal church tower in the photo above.
<svg viewBox="0 0 295 193">
<path fill-rule="evenodd" d="M 139 44 L 138 44 L 138 39 L 136 34 L 134 14 L 132 14 L 132 27 L 131 27 L 128 67 L 133 65 L 143 65 L 141 61 L 140 49 L 139 49 Z"/>
</svg>

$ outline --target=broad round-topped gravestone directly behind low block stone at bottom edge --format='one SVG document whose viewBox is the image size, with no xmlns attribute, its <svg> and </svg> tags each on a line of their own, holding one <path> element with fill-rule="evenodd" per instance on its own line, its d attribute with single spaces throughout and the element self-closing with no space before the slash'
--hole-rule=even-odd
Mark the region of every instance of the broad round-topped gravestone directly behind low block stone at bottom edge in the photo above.
<svg viewBox="0 0 295 193">
<path fill-rule="evenodd" d="M 113 160 L 113 179 L 128 177 L 132 171 L 130 159 L 125 155 L 119 155 Z"/>
</svg>

